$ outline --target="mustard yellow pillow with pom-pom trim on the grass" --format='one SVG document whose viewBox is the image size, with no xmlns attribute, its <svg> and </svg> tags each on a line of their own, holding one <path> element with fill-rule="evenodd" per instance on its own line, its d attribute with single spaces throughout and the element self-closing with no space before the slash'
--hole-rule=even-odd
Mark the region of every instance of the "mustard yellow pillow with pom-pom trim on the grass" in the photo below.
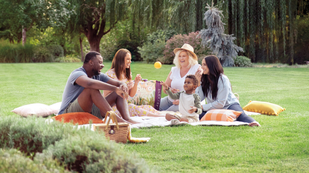
<svg viewBox="0 0 309 173">
<path fill-rule="evenodd" d="M 273 103 L 250 100 L 250 102 L 245 107 L 243 107 L 243 110 L 257 112 L 265 115 L 278 116 L 280 112 L 285 111 L 286 109 Z"/>
</svg>

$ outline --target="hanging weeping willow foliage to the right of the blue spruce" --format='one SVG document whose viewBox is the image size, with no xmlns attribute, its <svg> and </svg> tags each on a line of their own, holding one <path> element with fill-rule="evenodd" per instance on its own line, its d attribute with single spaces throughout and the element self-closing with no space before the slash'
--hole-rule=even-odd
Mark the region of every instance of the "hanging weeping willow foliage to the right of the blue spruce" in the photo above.
<svg viewBox="0 0 309 173">
<path fill-rule="evenodd" d="M 307 0 L 228 0 L 228 31 L 253 62 L 294 62 L 296 14 Z M 298 10 L 299 9 L 299 10 Z"/>
</svg>

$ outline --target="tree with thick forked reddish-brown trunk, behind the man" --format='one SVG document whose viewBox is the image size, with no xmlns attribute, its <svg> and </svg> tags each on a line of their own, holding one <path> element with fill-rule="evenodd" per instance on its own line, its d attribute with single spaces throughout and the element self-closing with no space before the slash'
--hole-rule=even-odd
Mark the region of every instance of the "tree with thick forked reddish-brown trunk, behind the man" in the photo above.
<svg viewBox="0 0 309 173">
<path fill-rule="evenodd" d="M 125 0 L 68 0 L 68 8 L 74 11 L 67 26 L 71 34 L 85 34 L 91 51 L 100 52 L 103 35 L 125 18 L 128 10 Z"/>
</svg>

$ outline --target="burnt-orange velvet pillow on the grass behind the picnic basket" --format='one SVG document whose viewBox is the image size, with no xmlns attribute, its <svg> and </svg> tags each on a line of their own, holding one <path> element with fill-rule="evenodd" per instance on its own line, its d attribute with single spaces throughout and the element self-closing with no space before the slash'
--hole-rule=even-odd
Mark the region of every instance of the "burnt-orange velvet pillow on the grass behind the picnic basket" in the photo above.
<svg viewBox="0 0 309 173">
<path fill-rule="evenodd" d="M 64 123 L 73 123 L 73 124 L 89 124 L 91 120 L 93 124 L 103 123 L 101 119 L 98 117 L 91 115 L 87 112 L 72 112 L 54 116 L 53 119 Z"/>
</svg>

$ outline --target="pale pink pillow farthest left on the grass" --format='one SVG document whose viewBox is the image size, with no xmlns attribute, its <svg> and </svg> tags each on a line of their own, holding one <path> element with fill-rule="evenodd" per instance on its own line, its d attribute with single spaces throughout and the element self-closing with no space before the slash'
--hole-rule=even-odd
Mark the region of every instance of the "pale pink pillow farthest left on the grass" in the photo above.
<svg viewBox="0 0 309 173">
<path fill-rule="evenodd" d="M 14 112 L 15 114 L 23 117 L 28 117 L 32 115 L 36 115 L 37 117 L 46 117 L 55 113 L 55 110 L 45 104 L 33 103 L 15 108 L 11 112 Z"/>
</svg>

